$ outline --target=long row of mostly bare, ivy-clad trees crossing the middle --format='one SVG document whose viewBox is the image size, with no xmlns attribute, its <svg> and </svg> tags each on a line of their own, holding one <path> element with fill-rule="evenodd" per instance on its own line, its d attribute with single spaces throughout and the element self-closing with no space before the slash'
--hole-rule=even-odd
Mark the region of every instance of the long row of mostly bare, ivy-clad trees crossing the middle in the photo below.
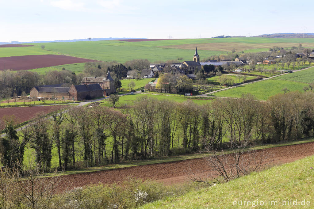
<svg viewBox="0 0 314 209">
<path fill-rule="evenodd" d="M 176 103 L 140 97 L 120 110 L 96 106 L 38 115 L 30 126 L 14 130 L 5 119 L 1 140 L 4 162 L 12 167 L 23 159 L 25 147 L 35 151 L 41 169 L 51 167 L 56 147 L 59 168 L 70 169 L 202 150 L 224 143 L 278 142 L 313 135 L 314 93 L 289 92 L 267 102 L 252 95 L 216 99 L 208 105 Z M 21 140 L 19 140 L 19 137 Z"/>
</svg>

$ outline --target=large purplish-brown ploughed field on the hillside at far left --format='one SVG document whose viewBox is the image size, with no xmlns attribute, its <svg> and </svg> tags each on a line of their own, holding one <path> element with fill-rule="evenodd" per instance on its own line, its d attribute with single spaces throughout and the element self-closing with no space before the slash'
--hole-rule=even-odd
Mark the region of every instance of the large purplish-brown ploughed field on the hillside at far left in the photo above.
<svg viewBox="0 0 314 209">
<path fill-rule="evenodd" d="M 66 65 L 82 62 L 100 62 L 65 55 L 26 55 L 26 56 L 8 56 L 0 57 L 0 63 L 5 62 L 5 69 L 30 70 L 42 67 L 51 67 L 57 65 Z M 0 65 L 0 70 L 4 70 L 4 65 Z"/>
</svg>

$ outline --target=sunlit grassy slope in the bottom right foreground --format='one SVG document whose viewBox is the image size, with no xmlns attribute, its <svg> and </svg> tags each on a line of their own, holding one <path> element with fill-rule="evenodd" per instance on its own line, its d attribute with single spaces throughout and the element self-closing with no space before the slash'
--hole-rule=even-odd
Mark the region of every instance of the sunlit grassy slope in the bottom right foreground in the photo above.
<svg viewBox="0 0 314 209">
<path fill-rule="evenodd" d="M 236 208 L 258 207 L 264 202 L 263 208 L 280 207 L 283 200 L 297 200 L 297 206 L 287 208 L 314 207 L 314 156 L 275 166 L 271 169 L 232 180 L 222 185 L 193 191 L 175 199 L 156 201 L 142 208 Z M 310 205 L 302 206 L 302 202 L 310 201 Z M 236 202 L 234 202 L 236 201 Z M 238 202 L 242 201 L 241 205 Z M 250 205 L 243 205 L 243 201 L 251 201 Z M 255 202 L 255 206 L 252 205 Z M 268 203 L 269 201 L 269 203 Z M 277 201 L 271 202 L 271 201 Z M 234 203 L 235 206 L 234 206 Z M 273 204 L 273 205 L 272 205 Z M 287 204 L 287 203 L 286 203 Z"/>
</svg>

